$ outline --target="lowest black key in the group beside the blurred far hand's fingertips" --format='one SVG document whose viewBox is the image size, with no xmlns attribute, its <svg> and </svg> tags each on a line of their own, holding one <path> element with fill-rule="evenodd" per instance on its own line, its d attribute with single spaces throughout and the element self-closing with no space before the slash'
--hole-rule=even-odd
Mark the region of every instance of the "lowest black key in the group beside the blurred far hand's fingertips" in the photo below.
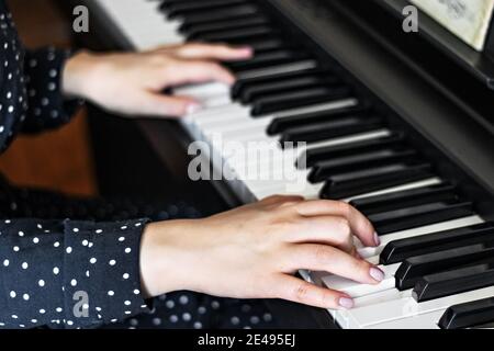
<svg viewBox="0 0 494 351">
<path fill-rule="evenodd" d="M 351 97 L 351 89 L 344 87 L 337 89 L 316 88 L 304 91 L 270 95 L 256 100 L 251 110 L 252 116 L 261 116 L 278 111 L 288 111 L 317 103 L 332 102 Z"/>
</svg>

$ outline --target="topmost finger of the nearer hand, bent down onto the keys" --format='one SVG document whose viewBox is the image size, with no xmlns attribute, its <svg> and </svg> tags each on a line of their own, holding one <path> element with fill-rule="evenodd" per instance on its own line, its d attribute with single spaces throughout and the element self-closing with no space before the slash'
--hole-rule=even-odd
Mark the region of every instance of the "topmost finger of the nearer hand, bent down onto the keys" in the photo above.
<svg viewBox="0 0 494 351">
<path fill-rule="evenodd" d="M 351 231 L 366 246 L 380 246 L 381 240 L 370 220 L 353 206 L 340 201 L 314 200 L 296 205 L 302 216 L 341 216 L 347 218 Z"/>
</svg>

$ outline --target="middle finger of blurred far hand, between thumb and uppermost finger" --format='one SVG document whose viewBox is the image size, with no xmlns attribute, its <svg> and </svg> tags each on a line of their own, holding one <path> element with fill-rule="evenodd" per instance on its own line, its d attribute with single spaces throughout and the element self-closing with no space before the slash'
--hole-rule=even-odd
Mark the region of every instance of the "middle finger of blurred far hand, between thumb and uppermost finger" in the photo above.
<svg viewBox="0 0 494 351">
<path fill-rule="evenodd" d="M 179 86 L 187 83 L 201 83 L 207 81 L 218 81 L 226 84 L 233 84 L 235 77 L 226 68 L 215 63 L 190 60 L 178 61 L 171 67 L 167 67 L 169 86 Z"/>
</svg>

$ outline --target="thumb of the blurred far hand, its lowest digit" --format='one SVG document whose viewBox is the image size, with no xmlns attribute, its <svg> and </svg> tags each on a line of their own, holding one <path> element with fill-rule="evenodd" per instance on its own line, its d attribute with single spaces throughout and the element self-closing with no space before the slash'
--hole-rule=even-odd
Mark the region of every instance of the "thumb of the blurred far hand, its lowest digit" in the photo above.
<svg viewBox="0 0 494 351">
<path fill-rule="evenodd" d="M 169 117 L 181 117 L 201 109 L 201 105 L 192 98 L 156 93 L 143 94 L 139 106 L 139 113 L 143 115 Z"/>
</svg>

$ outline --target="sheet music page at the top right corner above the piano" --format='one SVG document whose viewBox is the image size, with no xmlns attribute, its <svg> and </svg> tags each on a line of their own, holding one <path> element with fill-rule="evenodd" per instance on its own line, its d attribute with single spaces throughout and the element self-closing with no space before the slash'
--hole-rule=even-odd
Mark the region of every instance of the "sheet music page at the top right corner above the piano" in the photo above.
<svg viewBox="0 0 494 351">
<path fill-rule="evenodd" d="M 484 48 L 494 0 L 409 0 L 467 44 Z"/>
</svg>

